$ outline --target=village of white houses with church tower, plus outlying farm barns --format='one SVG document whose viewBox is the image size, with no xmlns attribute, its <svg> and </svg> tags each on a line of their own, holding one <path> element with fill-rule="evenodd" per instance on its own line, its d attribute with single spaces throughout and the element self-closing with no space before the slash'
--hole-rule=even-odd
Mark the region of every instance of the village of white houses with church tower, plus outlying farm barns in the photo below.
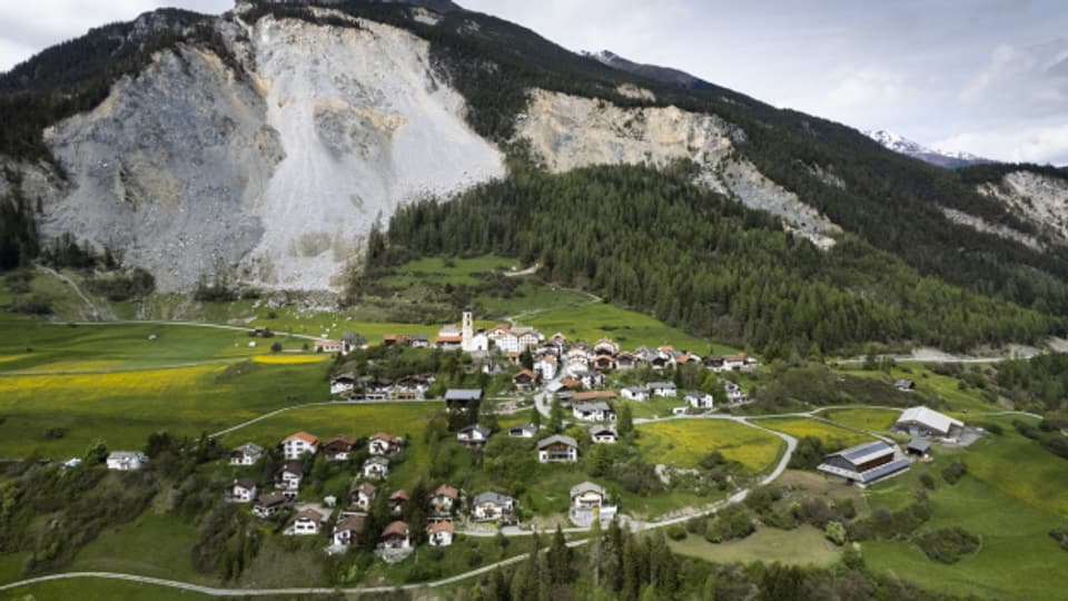
<svg viewBox="0 0 1068 601">
<path fill-rule="evenodd" d="M 574 435 L 576 432 L 583 432 L 590 445 L 624 442 L 617 427 L 620 412 L 616 405 L 621 401 L 680 401 L 671 415 L 664 416 L 669 420 L 731 418 L 731 414 L 718 412 L 738 408 L 749 402 L 741 387 L 726 378 L 716 380 L 718 387 L 712 392 L 680 392 L 666 377 L 617 385 L 620 373 L 643 370 L 650 377 L 655 377 L 676 373 L 679 366 L 693 363 L 715 374 L 731 374 L 753 371 L 759 365 L 755 358 L 744 354 L 701 357 L 670 346 L 625 352 L 607 338 L 591 345 L 582 341 L 570 342 L 562 334 L 545 337 L 532 328 L 507 324 L 475 329 L 469 311 L 464 312 L 462 319 L 458 328 L 442 328 L 433 343 L 421 336 L 386 335 L 380 344 L 387 347 L 433 344 L 442 351 L 469 354 L 472 368 L 510 374 L 513 390 L 503 395 L 503 403 L 497 407 L 515 406 L 516 400 L 533 397 L 534 418 L 531 422 L 502 428 L 479 423 L 479 416 L 486 415 L 483 405 L 488 401 L 481 388 L 446 390 L 439 397 L 441 411 L 449 416 L 451 435 L 458 447 L 481 450 L 491 436 L 527 440 L 532 444 L 526 452 L 536 457 L 538 464 L 545 465 L 574 464 L 580 460 L 584 445 Z M 367 342 L 357 336 L 346 336 L 339 343 L 317 342 L 320 352 L 339 355 L 366 345 Z M 393 382 L 343 373 L 330 380 L 329 394 L 336 402 L 344 403 L 418 402 L 428 400 L 433 384 L 433 374 L 411 374 Z M 908 392 L 914 384 L 898 381 L 896 387 Z M 554 432 L 546 425 L 554 413 L 565 415 L 562 426 L 570 426 L 568 434 L 563 433 L 563 428 Z M 817 471 L 867 487 L 900 475 L 914 461 L 931 461 L 932 442 L 966 445 L 982 433 L 960 420 L 923 406 L 903 411 L 893 430 L 900 434 L 897 440 L 878 436 L 880 440 L 876 442 L 835 451 L 823 459 Z M 462 534 L 485 536 L 500 532 L 517 535 L 536 530 L 536 523 L 523 520 L 518 500 L 512 491 L 463 490 L 445 481 L 435 483 L 432 490 L 421 491 L 384 486 L 390 479 L 394 463 L 403 461 L 408 443 L 403 435 L 387 432 L 363 439 L 346 434 L 320 439 L 308 432 L 296 432 L 278 441 L 274 450 L 247 442 L 229 453 L 228 464 L 247 471 L 227 487 L 226 501 L 248 506 L 250 514 L 259 520 L 281 520 L 285 536 L 320 536 L 326 543 L 326 553 L 373 545 L 376 554 L 387 562 L 404 560 L 421 543 L 449 546 Z M 715 441 L 708 441 L 708 445 L 713 447 Z M 273 471 L 273 479 L 264 481 L 253 475 L 258 471 L 255 467 L 271 461 L 273 453 L 281 457 L 281 463 Z M 347 466 L 345 473 L 352 474 L 347 495 L 326 495 L 313 501 L 303 493 L 317 457 L 328 464 Z M 784 457 L 783 462 L 788 459 Z M 117 471 L 136 471 L 147 461 L 148 457 L 140 452 L 117 451 L 109 455 L 107 465 Z M 624 523 L 631 519 L 623 513 L 619 500 L 613 499 L 607 483 L 580 477 L 570 486 L 567 508 L 564 519 L 568 530 L 573 531 L 590 529 L 595 522 L 604 526 L 616 519 Z M 372 520 L 370 514 L 376 511 L 384 513 L 386 519 L 378 515 Z M 405 515 L 413 514 L 418 515 L 418 530 L 413 530 L 415 524 L 404 520 Z"/>
</svg>

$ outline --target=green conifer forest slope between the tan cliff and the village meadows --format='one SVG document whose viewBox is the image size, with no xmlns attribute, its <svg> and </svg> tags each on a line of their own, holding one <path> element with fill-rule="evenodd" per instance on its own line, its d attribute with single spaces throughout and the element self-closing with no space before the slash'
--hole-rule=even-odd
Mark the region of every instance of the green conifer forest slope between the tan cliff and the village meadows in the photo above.
<svg viewBox="0 0 1068 601">
<path fill-rule="evenodd" d="M 923 276 L 854 236 L 820 252 L 767 214 L 693 184 L 695 173 L 679 164 L 552 175 L 514 160 L 504 181 L 399 210 L 368 265 L 518 257 L 553 282 L 773 357 L 870 341 L 967 349 L 1036 341 L 1060 326 Z"/>
</svg>

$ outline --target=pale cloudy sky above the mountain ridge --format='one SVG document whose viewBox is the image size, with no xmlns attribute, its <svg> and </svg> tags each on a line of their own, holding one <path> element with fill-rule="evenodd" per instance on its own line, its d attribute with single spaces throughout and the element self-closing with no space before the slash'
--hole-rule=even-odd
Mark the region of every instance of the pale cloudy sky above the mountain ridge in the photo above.
<svg viewBox="0 0 1068 601">
<path fill-rule="evenodd" d="M 1001 160 L 1068 164 L 1064 0 L 457 0 L 572 50 L 675 67 L 780 107 Z M 0 70 L 159 6 L 0 0 Z"/>
</svg>

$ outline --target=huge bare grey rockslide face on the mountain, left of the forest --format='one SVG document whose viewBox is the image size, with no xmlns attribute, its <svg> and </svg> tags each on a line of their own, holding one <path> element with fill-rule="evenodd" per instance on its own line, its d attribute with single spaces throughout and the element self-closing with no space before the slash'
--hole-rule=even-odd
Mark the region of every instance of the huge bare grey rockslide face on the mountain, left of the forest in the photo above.
<svg viewBox="0 0 1068 601">
<path fill-rule="evenodd" d="M 244 72 L 191 47 L 160 52 L 46 132 L 70 181 L 40 194 L 43 234 L 121 249 L 162 290 L 219 272 L 337 288 L 376 218 L 503 175 L 424 40 L 353 26 L 222 23 Z"/>
</svg>

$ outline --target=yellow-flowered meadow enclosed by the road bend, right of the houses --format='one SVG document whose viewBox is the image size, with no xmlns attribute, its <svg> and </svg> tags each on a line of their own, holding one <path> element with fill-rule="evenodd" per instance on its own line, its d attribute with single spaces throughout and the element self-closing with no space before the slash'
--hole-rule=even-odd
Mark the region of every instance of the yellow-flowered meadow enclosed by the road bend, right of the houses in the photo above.
<svg viewBox="0 0 1068 601">
<path fill-rule="evenodd" d="M 646 461 L 676 467 L 695 467 L 719 451 L 746 471 L 761 473 L 774 466 L 785 447 L 778 436 L 728 420 L 671 420 L 636 427 Z"/>
</svg>

